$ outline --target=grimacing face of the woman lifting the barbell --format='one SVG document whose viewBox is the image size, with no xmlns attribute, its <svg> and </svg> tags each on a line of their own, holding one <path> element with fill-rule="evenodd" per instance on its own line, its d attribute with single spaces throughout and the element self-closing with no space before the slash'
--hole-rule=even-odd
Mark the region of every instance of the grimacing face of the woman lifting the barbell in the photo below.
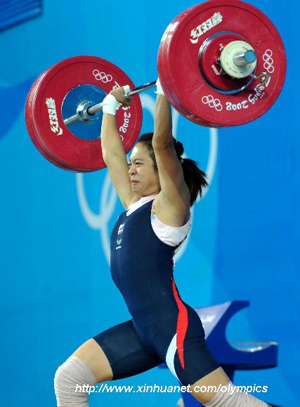
<svg viewBox="0 0 300 407">
<path fill-rule="evenodd" d="M 129 159 L 129 177 L 133 192 L 140 196 L 154 195 L 160 191 L 158 172 L 153 164 L 148 148 L 138 143 Z"/>
</svg>

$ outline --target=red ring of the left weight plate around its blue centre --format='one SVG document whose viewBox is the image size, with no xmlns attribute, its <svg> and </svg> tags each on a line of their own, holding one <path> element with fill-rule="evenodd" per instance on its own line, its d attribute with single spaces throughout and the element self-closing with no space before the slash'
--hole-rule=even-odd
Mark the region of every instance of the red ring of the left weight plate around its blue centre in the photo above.
<svg viewBox="0 0 300 407">
<path fill-rule="evenodd" d="M 113 87 L 129 84 L 132 81 L 121 69 L 112 63 L 91 56 L 69 58 L 54 65 L 36 84 L 32 107 L 30 128 L 37 135 L 39 144 L 48 156 L 70 171 L 96 171 L 105 167 L 102 157 L 101 142 L 83 140 L 75 137 L 63 123 L 61 106 L 65 95 L 79 85 L 98 86 L 105 93 Z M 57 119 L 51 123 L 48 109 L 56 110 Z M 75 112 L 74 112 L 75 113 Z M 129 152 L 141 130 L 142 107 L 138 96 L 134 96 L 129 109 L 120 108 L 117 112 L 119 133 L 124 138 L 124 150 Z"/>
</svg>

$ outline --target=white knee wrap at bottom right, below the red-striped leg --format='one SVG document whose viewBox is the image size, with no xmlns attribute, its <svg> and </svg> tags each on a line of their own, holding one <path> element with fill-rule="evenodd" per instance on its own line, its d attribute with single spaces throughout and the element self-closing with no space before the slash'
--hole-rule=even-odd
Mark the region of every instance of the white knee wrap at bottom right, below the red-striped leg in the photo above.
<svg viewBox="0 0 300 407">
<path fill-rule="evenodd" d="M 227 387 L 225 391 L 225 387 Z M 204 404 L 206 407 L 267 407 L 264 401 L 256 399 L 256 397 L 244 393 L 238 392 L 237 386 L 233 385 L 233 382 L 228 382 L 227 385 L 222 386 L 221 390 L 209 401 Z"/>
</svg>

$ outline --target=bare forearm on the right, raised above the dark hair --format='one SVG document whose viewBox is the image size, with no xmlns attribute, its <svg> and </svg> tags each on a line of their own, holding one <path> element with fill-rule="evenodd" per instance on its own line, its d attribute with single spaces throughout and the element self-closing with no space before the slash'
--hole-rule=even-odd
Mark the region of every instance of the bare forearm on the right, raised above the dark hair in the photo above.
<svg viewBox="0 0 300 407">
<path fill-rule="evenodd" d="M 152 145 L 169 147 L 173 145 L 171 105 L 164 95 L 157 95 Z"/>
</svg>

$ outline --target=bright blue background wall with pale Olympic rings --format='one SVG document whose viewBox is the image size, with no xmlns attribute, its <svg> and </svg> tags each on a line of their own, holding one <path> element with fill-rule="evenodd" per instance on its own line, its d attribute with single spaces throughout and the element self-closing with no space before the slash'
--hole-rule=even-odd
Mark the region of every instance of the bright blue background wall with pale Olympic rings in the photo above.
<svg viewBox="0 0 300 407">
<path fill-rule="evenodd" d="M 110 279 L 107 239 L 122 206 L 107 171 L 60 170 L 32 145 L 25 98 L 34 79 L 74 55 L 98 55 L 136 84 L 157 77 L 159 40 L 191 1 L 44 1 L 39 18 L 0 34 L 1 403 L 56 405 L 56 368 L 92 335 L 129 319 Z M 296 97 L 299 3 L 257 1 L 278 27 L 288 71 L 275 105 L 251 124 L 219 131 L 174 114 L 174 135 L 200 162 L 211 187 L 195 204 L 175 278 L 194 307 L 250 300 L 229 340 L 279 342 L 277 368 L 239 372 L 237 385 L 268 385 L 266 400 L 299 406 L 300 139 Z M 152 61 L 152 62 L 151 62 Z M 292 81 L 292 72 L 293 81 Z M 143 95 L 143 131 L 153 126 Z M 247 320 L 249 326 L 247 325 Z M 152 369 L 120 384 L 175 385 Z M 178 394 L 93 394 L 91 406 L 174 406 Z"/>
</svg>

